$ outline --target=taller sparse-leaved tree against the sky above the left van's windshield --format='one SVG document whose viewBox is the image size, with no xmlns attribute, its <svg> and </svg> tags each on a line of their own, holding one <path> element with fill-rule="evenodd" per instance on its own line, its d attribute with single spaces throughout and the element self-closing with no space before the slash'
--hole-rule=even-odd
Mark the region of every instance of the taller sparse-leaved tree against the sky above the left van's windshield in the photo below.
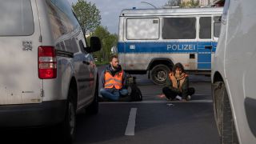
<svg viewBox="0 0 256 144">
<path fill-rule="evenodd" d="M 85 34 L 92 33 L 97 26 L 100 26 L 102 18 L 95 4 L 78 0 L 77 3 L 72 3 L 72 7 Z"/>
</svg>

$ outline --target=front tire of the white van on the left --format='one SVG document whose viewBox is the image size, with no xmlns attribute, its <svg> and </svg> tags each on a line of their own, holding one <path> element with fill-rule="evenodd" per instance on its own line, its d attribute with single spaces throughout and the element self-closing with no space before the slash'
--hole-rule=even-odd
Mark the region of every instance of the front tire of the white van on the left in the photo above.
<svg viewBox="0 0 256 144">
<path fill-rule="evenodd" d="M 86 107 L 86 114 L 98 114 L 98 78 L 96 82 L 94 101 L 90 104 L 90 106 Z"/>
</svg>

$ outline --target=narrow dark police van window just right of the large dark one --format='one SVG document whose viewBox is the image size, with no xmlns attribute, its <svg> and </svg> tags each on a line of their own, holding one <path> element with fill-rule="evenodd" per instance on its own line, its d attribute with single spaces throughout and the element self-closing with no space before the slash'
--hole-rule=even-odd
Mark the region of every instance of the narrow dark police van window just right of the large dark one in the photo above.
<svg viewBox="0 0 256 144">
<path fill-rule="evenodd" d="M 199 18 L 199 38 L 210 39 L 211 38 L 211 17 Z"/>
</svg>

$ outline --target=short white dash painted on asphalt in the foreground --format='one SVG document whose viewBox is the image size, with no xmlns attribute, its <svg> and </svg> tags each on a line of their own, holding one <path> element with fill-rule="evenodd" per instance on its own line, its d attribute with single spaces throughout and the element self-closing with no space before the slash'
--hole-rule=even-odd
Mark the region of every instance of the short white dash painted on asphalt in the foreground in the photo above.
<svg viewBox="0 0 256 144">
<path fill-rule="evenodd" d="M 134 135 L 136 112 L 137 112 L 137 108 L 130 109 L 130 115 L 129 115 L 128 123 L 126 126 L 125 135 Z"/>
</svg>

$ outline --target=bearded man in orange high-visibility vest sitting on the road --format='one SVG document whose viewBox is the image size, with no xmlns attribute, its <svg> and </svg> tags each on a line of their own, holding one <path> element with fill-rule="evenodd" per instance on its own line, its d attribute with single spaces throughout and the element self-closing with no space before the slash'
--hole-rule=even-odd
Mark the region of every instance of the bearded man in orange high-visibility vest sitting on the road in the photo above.
<svg viewBox="0 0 256 144">
<path fill-rule="evenodd" d="M 126 83 L 126 74 L 122 67 L 118 65 L 118 56 L 110 57 L 110 65 L 102 71 L 101 81 L 103 88 L 100 90 L 103 98 L 118 101 L 120 95 L 126 96 L 128 90 L 124 89 Z"/>
</svg>

